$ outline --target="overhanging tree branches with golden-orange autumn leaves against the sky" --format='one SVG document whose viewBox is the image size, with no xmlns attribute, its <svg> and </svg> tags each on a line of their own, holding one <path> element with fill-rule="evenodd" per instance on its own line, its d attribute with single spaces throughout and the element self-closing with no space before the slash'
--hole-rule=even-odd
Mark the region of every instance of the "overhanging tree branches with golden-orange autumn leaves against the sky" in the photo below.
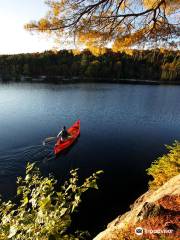
<svg viewBox="0 0 180 240">
<path fill-rule="evenodd" d="M 49 11 L 25 28 L 86 47 L 177 46 L 178 0 L 48 0 Z M 176 39 L 176 40 L 175 40 Z"/>
</svg>

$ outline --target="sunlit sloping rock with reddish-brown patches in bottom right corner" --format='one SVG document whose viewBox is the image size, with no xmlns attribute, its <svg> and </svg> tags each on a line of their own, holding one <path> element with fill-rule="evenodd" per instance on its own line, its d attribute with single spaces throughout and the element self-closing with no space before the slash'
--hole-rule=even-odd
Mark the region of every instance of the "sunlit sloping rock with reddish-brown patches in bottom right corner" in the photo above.
<svg viewBox="0 0 180 240">
<path fill-rule="evenodd" d="M 180 239 L 180 174 L 139 197 L 94 240 Z"/>
</svg>

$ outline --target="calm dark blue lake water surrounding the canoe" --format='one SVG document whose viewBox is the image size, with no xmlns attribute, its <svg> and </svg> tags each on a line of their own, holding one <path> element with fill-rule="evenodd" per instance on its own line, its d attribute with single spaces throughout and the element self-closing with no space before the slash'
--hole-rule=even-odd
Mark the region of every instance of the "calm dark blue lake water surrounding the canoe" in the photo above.
<svg viewBox="0 0 180 240">
<path fill-rule="evenodd" d="M 60 180 L 104 170 L 99 191 L 87 193 L 75 218 L 79 229 L 103 230 L 147 190 L 145 169 L 180 139 L 180 86 L 116 84 L 0 85 L 0 193 L 12 197 L 27 161 Z M 81 119 L 81 136 L 55 158 L 42 146 Z"/>
</svg>

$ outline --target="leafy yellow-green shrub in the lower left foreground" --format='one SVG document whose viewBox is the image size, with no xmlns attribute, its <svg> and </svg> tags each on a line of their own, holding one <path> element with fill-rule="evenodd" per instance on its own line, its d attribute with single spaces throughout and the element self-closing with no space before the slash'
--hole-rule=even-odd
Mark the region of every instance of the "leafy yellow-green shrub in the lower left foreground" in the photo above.
<svg viewBox="0 0 180 240">
<path fill-rule="evenodd" d="M 84 239 L 84 232 L 69 233 L 71 214 L 81 202 L 82 193 L 98 188 L 100 173 L 94 173 L 78 186 L 77 169 L 72 170 L 58 192 L 53 176 L 43 177 L 35 164 L 28 164 L 26 176 L 17 180 L 18 204 L 0 202 L 0 240 Z"/>
</svg>

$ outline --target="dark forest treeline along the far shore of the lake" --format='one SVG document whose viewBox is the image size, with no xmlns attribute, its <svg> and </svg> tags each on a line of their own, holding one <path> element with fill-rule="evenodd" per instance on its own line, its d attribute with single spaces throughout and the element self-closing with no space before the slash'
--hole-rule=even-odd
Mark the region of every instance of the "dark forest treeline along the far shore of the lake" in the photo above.
<svg viewBox="0 0 180 240">
<path fill-rule="evenodd" d="M 106 49 L 95 55 L 89 50 L 27 53 L 0 56 L 1 81 L 121 81 L 126 79 L 180 80 L 180 51 Z"/>
</svg>

